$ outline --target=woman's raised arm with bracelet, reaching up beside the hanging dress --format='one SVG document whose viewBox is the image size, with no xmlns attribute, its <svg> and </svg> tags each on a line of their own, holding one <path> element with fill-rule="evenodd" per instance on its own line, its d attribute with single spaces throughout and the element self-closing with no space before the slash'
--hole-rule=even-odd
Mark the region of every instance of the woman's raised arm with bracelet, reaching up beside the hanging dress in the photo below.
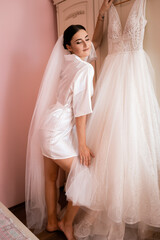
<svg viewBox="0 0 160 240">
<path fill-rule="evenodd" d="M 104 0 L 99 10 L 97 23 L 96 23 L 96 27 L 95 27 L 93 38 L 92 38 L 92 42 L 95 49 L 97 49 L 101 44 L 102 36 L 103 36 L 104 15 L 105 15 L 105 12 L 108 11 L 108 9 L 110 8 L 113 1 L 114 0 L 110 0 L 110 1 Z"/>
</svg>

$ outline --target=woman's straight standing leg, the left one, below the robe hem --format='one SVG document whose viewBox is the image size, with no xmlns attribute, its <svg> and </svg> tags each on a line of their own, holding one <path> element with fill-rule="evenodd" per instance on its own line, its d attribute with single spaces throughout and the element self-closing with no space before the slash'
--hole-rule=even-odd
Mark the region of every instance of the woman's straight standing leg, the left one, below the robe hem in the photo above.
<svg viewBox="0 0 160 240">
<path fill-rule="evenodd" d="M 58 230 L 57 220 L 57 188 L 58 165 L 47 157 L 44 157 L 45 170 L 45 197 L 47 205 L 47 226 L 46 230 Z"/>
</svg>

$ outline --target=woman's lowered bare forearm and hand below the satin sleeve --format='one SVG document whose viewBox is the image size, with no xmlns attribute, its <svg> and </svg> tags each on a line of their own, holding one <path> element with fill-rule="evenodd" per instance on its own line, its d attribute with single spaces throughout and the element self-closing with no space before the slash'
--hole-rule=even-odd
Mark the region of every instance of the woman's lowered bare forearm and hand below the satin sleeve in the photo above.
<svg viewBox="0 0 160 240">
<path fill-rule="evenodd" d="M 86 115 L 76 117 L 75 119 L 78 136 L 80 163 L 85 166 L 89 166 L 91 164 L 91 157 L 94 157 L 94 154 L 86 146 Z"/>
</svg>

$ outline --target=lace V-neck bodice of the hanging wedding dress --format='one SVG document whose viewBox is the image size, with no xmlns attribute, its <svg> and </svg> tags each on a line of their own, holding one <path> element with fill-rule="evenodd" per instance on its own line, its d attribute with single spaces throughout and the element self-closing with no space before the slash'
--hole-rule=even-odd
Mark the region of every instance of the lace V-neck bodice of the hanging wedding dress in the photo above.
<svg viewBox="0 0 160 240">
<path fill-rule="evenodd" d="M 124 29 L 116 7 L 109 10 L 108 53 L 136 51 L 143 48 L 146 0 L 135 0 Z"/>
</svg>

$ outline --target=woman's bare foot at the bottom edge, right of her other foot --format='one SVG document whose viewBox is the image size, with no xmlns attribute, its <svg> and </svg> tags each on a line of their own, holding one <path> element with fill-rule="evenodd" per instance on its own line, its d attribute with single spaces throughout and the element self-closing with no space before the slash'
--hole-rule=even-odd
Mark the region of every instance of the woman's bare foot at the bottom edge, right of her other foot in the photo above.
<svg viewBox="0 0 160 240">
<path fill-rule="evenodd" d="M 73 234 L 73 226 L 72 224 L 67 224 L 62 219 L 60 222 L 58 222 L 58 226 L 60 230 L 62 230 L 67 237 L 68 240 L 76 240 Z"/>
</svg>

